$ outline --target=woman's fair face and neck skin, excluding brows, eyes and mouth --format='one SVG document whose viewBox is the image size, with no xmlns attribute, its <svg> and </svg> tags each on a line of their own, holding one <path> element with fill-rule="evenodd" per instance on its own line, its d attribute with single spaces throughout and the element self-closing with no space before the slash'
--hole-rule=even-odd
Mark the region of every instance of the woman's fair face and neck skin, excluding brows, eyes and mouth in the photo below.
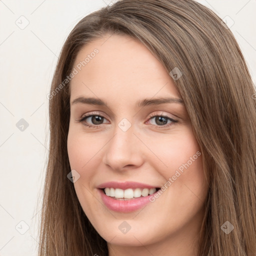
<svg viewBox="0 0 256 256">
<path fill-rule="evenodd" d="M 86 44 L 75 65 L 95 48 L 99 52 L 70 84 L 67 149 L 71 169 L 80 174 L 74 188 L 81 207 L 107 241 L 110 256 L 195 256 L 208 191 L 202 156 L 144 208 L 121 213 L 101 200 L 96 187 L 106 181 L 161 187 L 200 148 L 184 104 L 136 106 L 144 98 L 181 99 L 171 76 L 143 44 L 126 35 L 105 35 Z M 100 98 L 108 107 L 72 104 L 80 96 Z M 92 112 L 104 117 L 101 124 L 91 117 L 77 121 Z M 156 114 L 178 122 L 165 119 L 160 125 L 150 117 Z M 118 126 L 123 118 L 131 124 L 125 132 Z M 125 234 L 118 229 L 124 220 L 131 227 Z"/>
</svg>

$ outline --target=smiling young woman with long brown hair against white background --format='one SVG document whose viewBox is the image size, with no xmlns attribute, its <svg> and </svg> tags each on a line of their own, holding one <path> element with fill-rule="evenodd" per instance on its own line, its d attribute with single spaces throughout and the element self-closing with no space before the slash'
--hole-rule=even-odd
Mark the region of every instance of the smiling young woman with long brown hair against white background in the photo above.
<svg viewBox="0 0 256 256">
<path fill-rule="evenodd" d="M 73 28 L 49 98 L 40 255 L 256 253 L 255 88 L 191 0 L 121 0 Z"/>
</svg>

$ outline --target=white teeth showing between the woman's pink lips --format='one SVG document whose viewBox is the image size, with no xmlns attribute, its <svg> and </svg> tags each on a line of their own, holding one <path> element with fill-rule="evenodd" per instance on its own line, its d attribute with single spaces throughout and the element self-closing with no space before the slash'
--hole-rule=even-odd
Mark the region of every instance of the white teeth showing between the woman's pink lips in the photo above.
<svg viewBox="0 0 256 256">
<path fill-rule="evenodd" d="M 145 197 L 157 192 L 159 187 L 152 188 L 113 188 L 113 187 L 105 187 L 101 188 L 105 195 L 116 199 L 116 200 L 134 200 L 136 198 Z"/>
</svg>

